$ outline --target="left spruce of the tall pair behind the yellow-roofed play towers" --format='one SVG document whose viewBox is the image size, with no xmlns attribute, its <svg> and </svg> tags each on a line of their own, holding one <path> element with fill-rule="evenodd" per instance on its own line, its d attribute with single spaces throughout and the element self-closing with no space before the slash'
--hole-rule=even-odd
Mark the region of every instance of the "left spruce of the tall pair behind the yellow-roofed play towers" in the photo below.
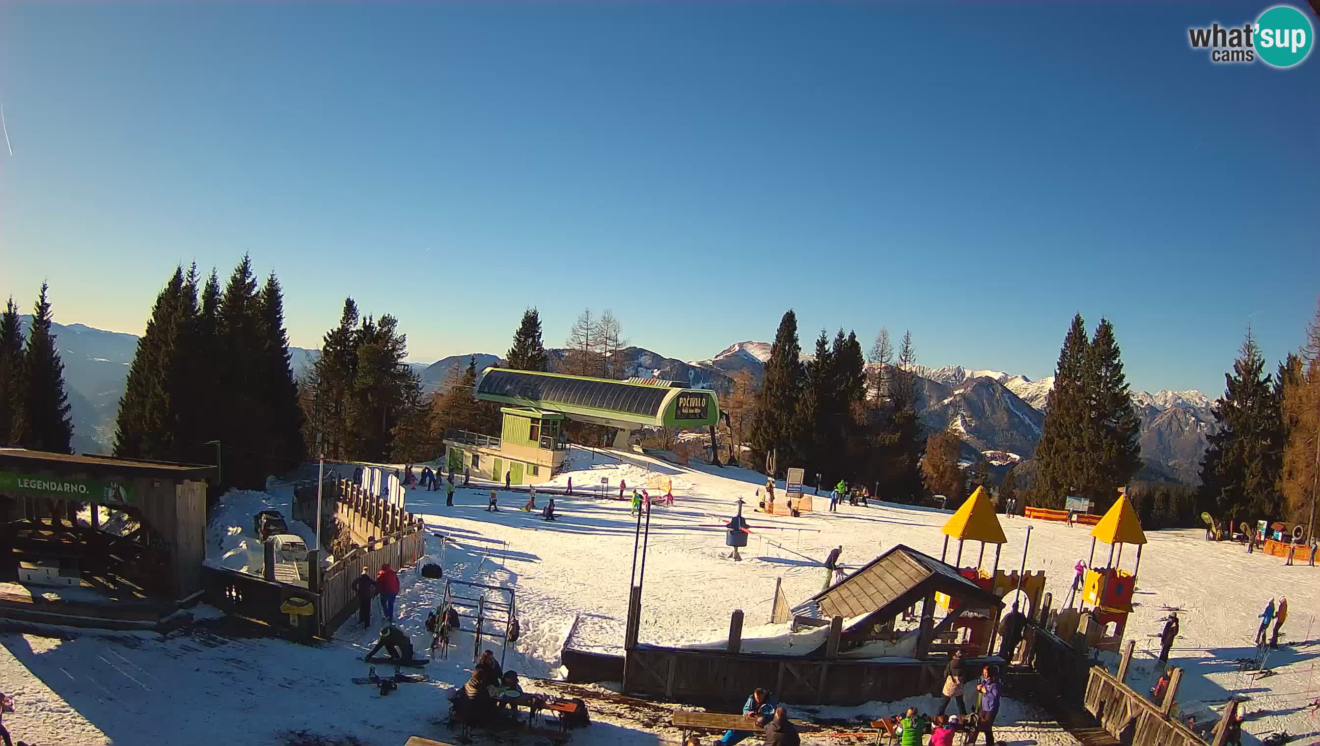
<svg viewBox="0 0 1320 746">
<path fill-rule="evenodd" d="M 1088 487 L 1086 450 L 1092 448 L 1090 405 L 1086 397 L 1086 359 L 1090 339 L 1081 314 L 1073 316 L 1059 364 L 1055 387 L 1045 396 L 1045 423 L 1036 444 L 1036 475 L 1027 491 L 1027 504 L 1061 508 L 1064 498 Z"/>
</svg>

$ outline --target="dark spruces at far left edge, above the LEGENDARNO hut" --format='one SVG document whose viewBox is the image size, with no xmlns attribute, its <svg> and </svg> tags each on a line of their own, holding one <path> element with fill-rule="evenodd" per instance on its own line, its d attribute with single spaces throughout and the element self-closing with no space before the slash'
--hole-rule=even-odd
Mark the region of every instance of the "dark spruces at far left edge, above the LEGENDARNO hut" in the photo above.
<svg viewBox="0 0 1320 746">
<path fill-rule="evenodd" d="M 51 331 L 48 290 L 42 283 L 26 335 L 12 297 L 0 316 L 0 445 L 73 453 L 65 364 Z"/>
</svg>

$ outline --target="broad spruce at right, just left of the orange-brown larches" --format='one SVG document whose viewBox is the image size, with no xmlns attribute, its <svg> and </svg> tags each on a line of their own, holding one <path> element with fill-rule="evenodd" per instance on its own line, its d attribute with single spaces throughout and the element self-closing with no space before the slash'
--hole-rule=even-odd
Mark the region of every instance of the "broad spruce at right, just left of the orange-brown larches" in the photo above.
<svg viewBox="0 0 1320 746">
<path fill-rule="evenodd" d="M 1283 465 L 1283 419 L 1250 330 L 1224 380 L 1224 396 L 1212 409 L 1214 432 L 1201 458 L 1197 503 L 1234 524 L 1275 519 L 1283 507 L 1275 489 Z"/>
</svg>

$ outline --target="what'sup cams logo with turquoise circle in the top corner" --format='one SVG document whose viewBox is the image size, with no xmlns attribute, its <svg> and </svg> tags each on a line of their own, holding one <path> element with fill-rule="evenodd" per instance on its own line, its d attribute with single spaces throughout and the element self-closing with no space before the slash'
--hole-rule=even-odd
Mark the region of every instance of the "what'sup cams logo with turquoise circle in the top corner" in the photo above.
<svg viewBox="0 0 1320 746">
<path fill-rule="evenodd" d="M 1275 5 L 1255 22 L 1241 26 L 1210 24 L 1187 29 L 1192 49 L 1208 49 L 1210 62 L 1255 62 L 1271 67 L 1300 65 L 1315 46 L 1311 18 L 1292 5 Z"/>
</svg>

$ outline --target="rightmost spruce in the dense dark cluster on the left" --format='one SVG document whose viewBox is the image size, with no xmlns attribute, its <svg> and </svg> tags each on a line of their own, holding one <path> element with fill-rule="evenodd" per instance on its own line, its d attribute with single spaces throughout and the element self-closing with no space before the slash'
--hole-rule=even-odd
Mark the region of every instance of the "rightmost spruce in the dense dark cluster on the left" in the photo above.
<svg viewBox="0 0 1320 746">
<path fill-rule="evenodd" d="M 279 463 L 293 466 L 308 452 L 302 440 L 302 411 L 298 408 L 298 380 L 289 363 L 289 334 L 284 327 L 284 290 L 271 272 L 257 298 L 261 314 L 264 407 L 268 423 L 269 454 Z M 313 454 L 315 456 L 315 454 Z"/>
</svg>

